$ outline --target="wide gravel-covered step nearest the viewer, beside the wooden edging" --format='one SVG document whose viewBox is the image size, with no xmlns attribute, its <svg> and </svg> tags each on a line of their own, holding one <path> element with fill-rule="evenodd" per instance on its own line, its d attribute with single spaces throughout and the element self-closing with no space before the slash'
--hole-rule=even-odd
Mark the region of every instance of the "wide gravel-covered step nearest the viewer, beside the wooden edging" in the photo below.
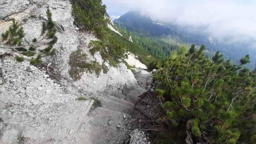
<svg viewBox="0 0 256 144">
<path fill-rule="evenodd" d="M 128 139 L 130 130 L 126 125 L 131 117 L 121 112 L 96 107 L 88 115 L 88 126 L 79 144 L 122 144 Z"/>
</svg>

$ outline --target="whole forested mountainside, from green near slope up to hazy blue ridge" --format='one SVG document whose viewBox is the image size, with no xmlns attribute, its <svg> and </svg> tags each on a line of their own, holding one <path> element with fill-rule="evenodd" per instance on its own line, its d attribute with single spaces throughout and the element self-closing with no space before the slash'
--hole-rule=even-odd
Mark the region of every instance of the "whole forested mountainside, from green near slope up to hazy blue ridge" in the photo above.
<svg viewBox="0 0 256 144">
<path fill-rule="evenodd" d="M 246 67 L 253 69 L 256 63 L 256 49 L 253 48 L 253 44 L 244 42 L 229 44 L 230 39 L 217 40 L 210 35 L 202 34 L 201 30 L 204 27 L 192 30 L 189 27 L 179 27 L 175 24 L 154 22 L 135 11 L 126 13 L 114 23 L 132 35 L 133 41 L 146 47 L 158 58 L 169 56 L 170 50 L 176 49 L 182 43 L 196 44 L 197 46 L 204 44 L 206 46 L 204 53 L 209 57 L 212 57 L 216 51 L 220 51 L 224 54 L 225 59 L 239 64 L 241 57 L 250 54 L 251 63 L 247 64 Z M 150 41 L 147 41 L 148 39 Z M 155 41 L 158 41 L 157 46 L 154 44 Z"/>
</svg>

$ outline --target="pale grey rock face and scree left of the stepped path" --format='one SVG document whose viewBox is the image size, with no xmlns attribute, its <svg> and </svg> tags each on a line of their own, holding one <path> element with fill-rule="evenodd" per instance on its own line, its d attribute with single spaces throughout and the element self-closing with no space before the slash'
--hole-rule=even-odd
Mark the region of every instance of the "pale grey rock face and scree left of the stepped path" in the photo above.
<svg viewBox="0 0 256 144">
<path fill-rule="evenodd" d="M 98 138 L 96 135 L 91 135 L 90 130 L 97 126 L 98 131 L 94 132 L 98 134 L 103 125 L 108 124 L 108 120 L 104 118 L 113 120 L 111 130 L 108 130 L 110 127 L 108 125 L 105 129 L 113 134 L 111 142 L 122 140 L 127 135 L 125 121 L 129 121 L 128 116 L 123 118 L 122 112 L 130 111 L 125 108 L 118 109 L 117 112 L 114 110 L 123 105 L 132 110 L 133 104 L 126 100 L 135 102 L 145 88 L 138 85 L 134 74 L 124 63 L 120 63 L 118 68 L 115 68 L 105 62 L 109 71 L 106 74 L 101 72 L 99 77 L 96 77 L 95 73 L 83 73 L 79 81 L 74 81 L 69 76 L 69 55 L 78 48 L 88 55 L 88 61 L 103 63 L 100 54 L 91 56 L 89 52 L 90 41 L 97 38 L 89 32 L 79 32 L 73 25 L 74 18 L 69 0 L 2 0 L 0 33 L 5 32 L 11 24 L 7 21 L 7 17 L 15 17 L 24 27 L 27 40 L 31 41 L 34 37 L 39 37 L 42 21 L 47 18 L 47 8 L 51 10 L 52 19 L 58 28 L 58 42 L 54 45 L 57 55 L 44 58 L 44 62 L 58 66 L 59 82 L 49 76 L 46 68 L 30 66 L 27 60 L 30 59 L 29 57 L 25 56 L 26 60 L 22 63 L 17 63 L 13 56 L 5 58 L 3 73 L 5 83 L 0 87 L 0 144 L 18 143 L 17 135 L 25 136 L 27 144 L 84 143 L 85 140 L 90 144 Z M 30 18 L 31 15 L 35 15 L 36 18 Z M 5 52 L 15 54 L 13 51 L 0 49 L 0 54 Z M 112 98 L 107 94 L 115 97 Z M 105 96 L 103 99 L 109 99 L 106 102 L 113 104 L 106 105 L 106 108 L 111 110 L 98 108 L 82 126 L 77 126 L 81 117 L 84 117 L 83 113 L 90 101 L 76 99 L 80 96 L 97 98 L 101 95 Z M 103 104 L 107 104 L 106 102 Z M 106 112 L 113 112 L 115 115 L 109 116 Z M 95 119 L 98 116 L 103 118 Z M 115 119 L 115 116 L 118 116 L 118 119 Z M 97 124 L 96 120 L 105 123 Z M 120 127 L 118 128 L 117 125 Z M 76 127 L 81 128 L 74 137 L 71 137 Z M 114 137 L 115 134 L 118 135 L 117 138 Z M 87 137 L 90 139 L 86 139 Z M 106 141 L 101 139 L 100 142 Z"/>
</svg>

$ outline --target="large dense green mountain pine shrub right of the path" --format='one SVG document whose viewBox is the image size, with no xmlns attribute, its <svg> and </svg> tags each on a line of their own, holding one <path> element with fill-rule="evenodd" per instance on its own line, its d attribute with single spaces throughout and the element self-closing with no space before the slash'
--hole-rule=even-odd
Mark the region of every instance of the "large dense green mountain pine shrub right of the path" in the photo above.
<svg viewBox="0 0 256 144">
<path fill-rule="evenodd" d="M 172 51 L 156 65 L 155 92 L 165 100 L 166 124 L 174 135 L 191 132 L 195 142 L 255 143 L 256 71 L 242 67 L 249 55 L 237 66 L 219 52 L 209 60 L 204 49 L 192 45 L 188 52 Z"/>
</svg>

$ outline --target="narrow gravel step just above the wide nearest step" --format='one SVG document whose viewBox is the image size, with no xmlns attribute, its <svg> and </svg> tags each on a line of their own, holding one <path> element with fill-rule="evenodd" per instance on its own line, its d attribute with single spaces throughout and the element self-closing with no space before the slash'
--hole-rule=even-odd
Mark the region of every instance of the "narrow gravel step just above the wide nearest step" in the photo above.
<svg viewBox="0 0 256 144">
<path fill-rule="evenodd" d="M 134 107 L 130 104 L 121 104 L 108 98 L 99 98 L 99 100 L 101 101 L 101 107 L 106 108 L 108 110 L 113 110 L 128 115 L 131 115 L 134 111 Z"/>
</svg>

